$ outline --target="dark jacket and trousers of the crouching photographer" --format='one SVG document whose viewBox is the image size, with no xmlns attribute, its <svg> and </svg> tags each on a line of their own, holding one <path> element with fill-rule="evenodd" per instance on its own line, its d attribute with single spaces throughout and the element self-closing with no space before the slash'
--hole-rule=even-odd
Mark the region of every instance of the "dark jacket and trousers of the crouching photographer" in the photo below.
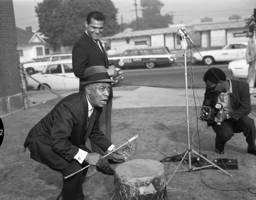
<svg viewBox="0 0 256 200">
<path fill-rule="evenodd" d="M 233 112 L 228 113 L 231 117 L 217 125 L 216 122 L 207 122 L 208 126 L 216 132 L 216 148 L 224 149 L 225 143 L 231 139 L 233 133 L 243 132 L 248 143 L 248 149 L 255 149 L 255 125 L 254 120 L 248 117 L 251 111 L 249 86 L 242 81 L 231 80 L 232 94 L 230 94 L 230 102 Z M 210 100 L 210 107 L 215 108 L 218 102 L 218 94 L 211 93 L 206 87 L 204 94 L 205 100 Z"/>
</svg>

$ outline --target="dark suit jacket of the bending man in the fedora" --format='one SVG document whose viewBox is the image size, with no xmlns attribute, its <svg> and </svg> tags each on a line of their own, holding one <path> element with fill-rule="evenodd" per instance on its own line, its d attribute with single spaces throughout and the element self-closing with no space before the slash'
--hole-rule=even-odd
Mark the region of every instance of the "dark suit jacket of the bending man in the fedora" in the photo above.
<svg viewBox="0 0 256 200">
<path fill-rule="evenodd" d="M 54 169 L 66 168 L 88 138 L 106 151 L 112 143 L 99 129 L 101 112 L 102 108 L 95 107 L 87 126 L 86 94 L 69 95 L 29 131 L 24 147 L 29 148 L 32 159 Z"/>
</svg>

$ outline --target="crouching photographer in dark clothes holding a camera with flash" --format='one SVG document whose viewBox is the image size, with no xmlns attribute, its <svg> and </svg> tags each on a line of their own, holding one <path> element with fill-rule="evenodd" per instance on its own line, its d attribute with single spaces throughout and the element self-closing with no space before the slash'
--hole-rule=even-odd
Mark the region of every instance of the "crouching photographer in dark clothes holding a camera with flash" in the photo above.
<svg viewBox="0 0 256 200">
<path fill-rule="evenodd" d="M 230 80 L 219 68 L 210 68 L 204 74 L 206 84 L 200 119 L 216 132 L 215 151 L 224 153 L 225 143 L 234 133 L 243 132 L 247 152 L 256 155 L 255 124 L 251 112 L 249 85 Z"/>
</svg>

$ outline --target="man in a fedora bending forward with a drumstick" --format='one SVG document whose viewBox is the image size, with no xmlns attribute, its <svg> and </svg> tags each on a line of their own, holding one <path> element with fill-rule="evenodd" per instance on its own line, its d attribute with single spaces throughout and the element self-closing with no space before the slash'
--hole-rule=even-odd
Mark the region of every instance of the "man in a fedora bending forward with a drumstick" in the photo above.
<svg viewBox="0 0 256 200">
<path fill-rule="evenodd" d="M 30 131 L 24 143 L 30 158 L 68 176 L 84 166 L 97 165 L 102 156 L 91 152 L 85 145 L 88 139 L 103 151 L 116 147 L 99 129 L 99 117 L 111 90 L 111 80 L 104 66 L 91 66 L 84 73 L 85 86 L 79 93 L 62 100 Z M 128 155 L 131 147 L 120 148 L 116 154 Z M 63 179 L 63 188 L 57 200 L 83 199 L 82 183 L 87 169 Z"/>
</svg>

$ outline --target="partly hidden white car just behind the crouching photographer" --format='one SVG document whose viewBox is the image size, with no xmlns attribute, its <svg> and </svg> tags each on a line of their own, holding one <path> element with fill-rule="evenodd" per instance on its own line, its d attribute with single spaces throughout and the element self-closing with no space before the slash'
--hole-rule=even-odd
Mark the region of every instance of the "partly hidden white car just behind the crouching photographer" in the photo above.
<svg viewBox="0 0 256 200">
<path fill-rule="evenodd" d="M 230 70 L 234 78 L 247 78 L 249 64 L 246 60 L 234 60 L 228 63 L 228 69 Z"/>
</svg>

